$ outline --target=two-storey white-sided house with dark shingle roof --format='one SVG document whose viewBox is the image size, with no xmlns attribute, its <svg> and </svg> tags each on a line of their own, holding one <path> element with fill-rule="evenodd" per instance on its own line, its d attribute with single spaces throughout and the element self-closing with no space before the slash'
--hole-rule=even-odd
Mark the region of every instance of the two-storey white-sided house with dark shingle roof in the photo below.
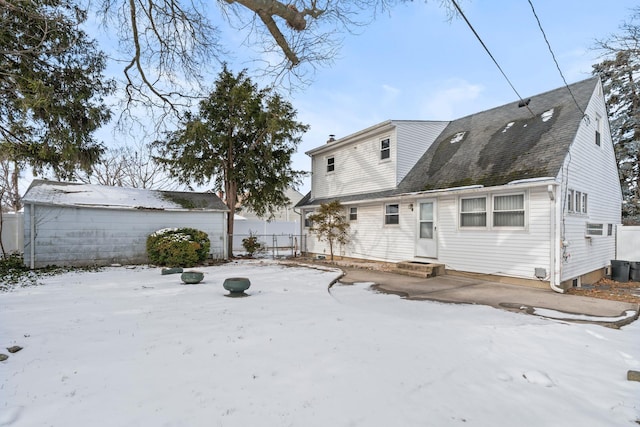
<svg viewBox="0 0 640 427">
<path fill-rule="evenodd" d="M 557 291 L 615 259 L 622 195 L 596 78 L 449 123 L 387 121 L 307 154 L 312 189 L 298 208 L 340 200 L 344 257 Z M 312 236 L 307 251 L 328 252 Z"/>
</svg>

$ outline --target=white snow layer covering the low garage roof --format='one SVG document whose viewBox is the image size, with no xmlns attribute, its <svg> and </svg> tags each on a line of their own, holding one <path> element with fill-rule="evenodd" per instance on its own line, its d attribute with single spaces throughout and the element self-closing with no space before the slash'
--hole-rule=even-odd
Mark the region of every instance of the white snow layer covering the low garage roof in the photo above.
<svg viewBox="0 0 640 427">
<path fill-rule="evenodd" d="M 172 193 L 140 188 L 110 187 L 55 181 L 34 181 L 23 197 L 25 203 L 135 209 L 187 209 Z M 182 193 L 185 198 L 190 193 Z M 197 194 L 197 193 L 193 193 Z M 215 195 L 210 195 L 216 198 Z"/>
</svg>

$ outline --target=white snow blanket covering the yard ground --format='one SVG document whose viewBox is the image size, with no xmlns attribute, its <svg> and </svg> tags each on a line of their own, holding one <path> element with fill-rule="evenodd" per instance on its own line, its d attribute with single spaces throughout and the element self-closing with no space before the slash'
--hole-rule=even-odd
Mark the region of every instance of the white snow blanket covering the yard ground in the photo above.
<svg viewBox="0 0 640 427">
<path fill-rule="evenodd" d="M 631 426 L 640 326 L 409 301 L 270 261 L 0 294 L 0 426 Z M 249 296 L 228 298 L 227 277 Z"/>
</svg>

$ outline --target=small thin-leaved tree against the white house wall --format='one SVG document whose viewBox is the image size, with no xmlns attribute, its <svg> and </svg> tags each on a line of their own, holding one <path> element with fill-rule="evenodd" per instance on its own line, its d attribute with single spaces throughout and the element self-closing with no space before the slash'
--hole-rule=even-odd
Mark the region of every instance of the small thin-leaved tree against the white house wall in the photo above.
<svg viewBox="0 0 640 427">
<path fill-rule="evenodd" d="M 329 244 L 329 253 L 333 261 L 333 249 L 349 242 L 349 223 L 344 208 L 338 200 L 320 205 L 318 211 L 308 216 L 311 221 L 309 232 L 315 234 L 321 242 Z"/>
</svg>

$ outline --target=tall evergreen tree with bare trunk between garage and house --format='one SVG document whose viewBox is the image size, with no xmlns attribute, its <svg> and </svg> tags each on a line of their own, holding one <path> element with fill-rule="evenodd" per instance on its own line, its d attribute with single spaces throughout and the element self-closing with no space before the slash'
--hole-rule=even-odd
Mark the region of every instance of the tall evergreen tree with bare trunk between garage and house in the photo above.
<svg viewBox="0 0 640 427">
<path fill-rule="evenodd" d="M 289 202 L 286 189 L 304 175 L 291 168 L 308 129 L 295 117 L 293 106 L 272 89 L 258 89 L 246 71 L 234 75 L 224 66 L 199 112 L 187 114 L 179 130 L 155 143 L 158 161 L 181 183 L 213 181 L 214 189 L 224 192 L 233 235 L 239 196 L 258 216 L 273 215 Z"/>
</svg>

